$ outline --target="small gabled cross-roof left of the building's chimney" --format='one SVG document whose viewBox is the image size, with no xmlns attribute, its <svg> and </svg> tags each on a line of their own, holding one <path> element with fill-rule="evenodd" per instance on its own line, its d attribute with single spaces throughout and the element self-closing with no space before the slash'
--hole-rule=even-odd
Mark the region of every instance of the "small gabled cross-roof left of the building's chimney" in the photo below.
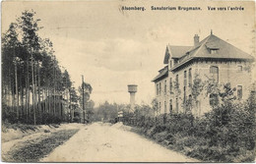
<svg viewBox="0 0 256 164">
<path fill-rule="evenodd" d="M 181 58 L 192 46 L 178 46 L 178 45 L 167 45 L 163 64 L 168 64 L 168 59 L 171 54 L 171 58 Z"/>
</svg>

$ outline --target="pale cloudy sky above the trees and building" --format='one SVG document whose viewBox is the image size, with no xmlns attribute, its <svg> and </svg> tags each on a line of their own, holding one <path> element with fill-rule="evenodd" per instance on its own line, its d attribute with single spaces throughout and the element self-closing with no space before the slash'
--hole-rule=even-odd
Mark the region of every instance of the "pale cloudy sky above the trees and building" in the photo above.
<svg viewBox="0 0 256 164">
<path fill-rule="evenodd" d="M 122 6 L 144 6 L 146 11 L 122 11 Z M 200 11 L 152 11 L 151 6 L 198 6 Z M 243 11 L 209 11 L 211 7 L 243 7 Z M 167 44 L 193 45 L 210 34 L 252 54 L 254 2 L 239 1 L 40 1 L 2 2 L 2 32 L 25 10 L 36 12 L 42 38 L 53 42 L 60 65 L 75 86 L 81 76 L 93 86 L 91 98 L 129 103 L 127 84 L 138 84 L 136 102 L 150 104 L 151 82 L 164 67 Z M 255 34 L 255 33 L 254 33 Z M 255 42 L 254 42 L 255 43 Z M 255 46 L 254 46 L 255 48 Z"/>
</svg>

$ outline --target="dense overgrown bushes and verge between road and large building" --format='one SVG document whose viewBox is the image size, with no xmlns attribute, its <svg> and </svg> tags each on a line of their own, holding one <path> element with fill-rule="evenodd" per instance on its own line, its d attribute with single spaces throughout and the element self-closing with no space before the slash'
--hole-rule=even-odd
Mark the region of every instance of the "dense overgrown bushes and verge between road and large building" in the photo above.
<svg viewBox="0 0 256 164">
<path fill-rule="evenodd" d="M 168 114 L 156 118 L 137 116 L 134 124 L 148 137 L 203 161 L 251 162 L 255 150 L 256 99 L 245 103 L 226 100 L 201 118 L 191 114 Z M 128 121 L 128 122 L 127 122 Z"/>
</svg>

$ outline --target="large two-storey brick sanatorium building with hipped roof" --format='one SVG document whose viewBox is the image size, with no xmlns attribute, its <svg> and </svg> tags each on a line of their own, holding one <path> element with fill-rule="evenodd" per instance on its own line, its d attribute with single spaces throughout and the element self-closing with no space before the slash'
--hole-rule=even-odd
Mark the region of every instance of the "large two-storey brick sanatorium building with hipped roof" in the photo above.
<svg viewBox="0 0 256 164">
<path fill-rule="evenodd" d="M 236 87 L 237 100 L 244 100 L 249 95 L 251 72 L 254 58 L 223 39 L 211 34 L 202 41 L 194 36 L 193 46 L 167 45 L 159 75 L 153 80 L 159 112 L 186 112 L 185 104 L 192 98 L 192 85 L 195 79 L 202 82 L 230 82 Z M 195 116 L 202 116 L 211 110 L 213 97 L 204 90 L 191 105 L 190 111 Z"/>
</svg>

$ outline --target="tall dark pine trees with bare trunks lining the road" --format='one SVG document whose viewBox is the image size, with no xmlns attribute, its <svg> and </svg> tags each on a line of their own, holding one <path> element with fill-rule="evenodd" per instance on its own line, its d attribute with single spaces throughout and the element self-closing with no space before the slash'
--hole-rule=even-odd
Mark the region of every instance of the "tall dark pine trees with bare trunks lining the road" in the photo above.
<svg viewBox="0 0 256 164">
<path fill-rule="evenodd" d="M 23 12 L 2 33 L 3 120 L 34 125 L 72 121 L 71 111 L 80 107 L 81 98 L 50 39 L 39 36 L 42 27 L 35 14 Z"/>
</svg>

